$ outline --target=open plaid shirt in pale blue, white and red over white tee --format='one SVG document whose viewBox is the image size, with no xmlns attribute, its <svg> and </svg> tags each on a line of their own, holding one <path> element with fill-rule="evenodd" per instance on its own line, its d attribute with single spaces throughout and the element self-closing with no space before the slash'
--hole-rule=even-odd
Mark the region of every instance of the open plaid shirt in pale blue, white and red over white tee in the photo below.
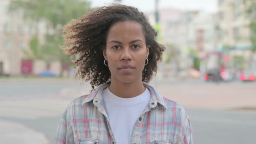
<svg viewBox="0 0 256 144">
<path fill-rule="evenodd" d="M 90 95 L 73 100 L 59 122 L 54 144 L 116 144 L 99 85 Z M 151 100 L 135 123 L 130 144 L 194 144 L 184 108 L 164 98 L 151 85 Z"/>
</svg>

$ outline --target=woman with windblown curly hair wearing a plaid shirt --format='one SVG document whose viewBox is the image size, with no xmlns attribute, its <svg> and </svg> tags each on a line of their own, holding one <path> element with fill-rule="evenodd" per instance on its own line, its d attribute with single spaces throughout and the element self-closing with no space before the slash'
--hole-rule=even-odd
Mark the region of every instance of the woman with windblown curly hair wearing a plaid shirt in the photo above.
<svg viewBox="0 0 256 144">
<path fill-rule="evenodd" d="M 144 13 L 125 5 L 65 26 L 63 50 L 79 56 L 76 76 L 92 92 L 68 105 L 54 144 L 193 144 L 184 108 L 147 83 L 165 49 L 156 36 Z"/>
</svg>

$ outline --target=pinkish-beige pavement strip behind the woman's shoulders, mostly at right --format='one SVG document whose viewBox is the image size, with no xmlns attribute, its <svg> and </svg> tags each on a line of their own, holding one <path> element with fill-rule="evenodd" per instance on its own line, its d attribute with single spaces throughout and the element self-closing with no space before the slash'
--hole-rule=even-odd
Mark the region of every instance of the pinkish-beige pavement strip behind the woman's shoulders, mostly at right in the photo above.
<svg viewBox="0 0 256 144">
<path fill-rule="evenodd" d="M 172 82 L 177 82 L 173 80 Z M 255 109 L 256 83 L 202 83 L 152 84 L 164 97 L 178 102 L 185 108 L 209 108 L 214 110 Z M 90 88 L 66 88 L 63 98 L 77 98 L 89 93 Z"/>
</svg>

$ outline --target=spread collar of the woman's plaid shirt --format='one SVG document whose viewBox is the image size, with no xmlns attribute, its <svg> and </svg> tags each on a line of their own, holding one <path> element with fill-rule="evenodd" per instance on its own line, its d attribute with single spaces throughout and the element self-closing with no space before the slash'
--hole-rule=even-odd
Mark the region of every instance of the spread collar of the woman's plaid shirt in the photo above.
<svg viewBox="0 0 256 144">
<path fill-rule="evenodd" d="M 98 85 L 98 87 L 93 91 L 91 94 L 89 94 L 84 101 L 82 102 L 82 105 L 85 103 L 92 101 L 94 105 L 98 105 L 102 103 L 103 97 L 102 93 L 105 88 L 107 88 L 110 85 L 110 83 L 104 83 L 101 85 Z M 150 99 L 150 107 L 155 108 L 158 104 L 164 106 L 164 109 L 166 110 L 166 104 L 164 102 L 164 97 L 157 91 L 155 90 L 151 85 L 148 83 L 143 82 L 143 85 L 149 89 L 151 93 L 151 99 Z"/>
</svg>

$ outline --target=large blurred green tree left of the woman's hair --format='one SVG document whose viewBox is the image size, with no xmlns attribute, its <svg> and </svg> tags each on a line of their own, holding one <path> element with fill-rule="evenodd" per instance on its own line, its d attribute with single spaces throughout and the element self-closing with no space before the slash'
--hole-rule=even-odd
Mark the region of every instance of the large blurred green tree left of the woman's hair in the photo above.
<svg viewBox="0 0 256 144">
<path fill-rule="evenodd" d="M 58 60 L 62 66 L 71 64 L 69 56 L 66 56 L 59 48 L 64 43 L 62 26 L 71 19 L 84 15 L 90 9 L 90 2 L 86 0 L 12 0 L 10 10 L 17 11 L 20 9 L 24 10 L 24 18 L 33 21 L 36 23 L 35 25 L 40 21 L 46 23 L 46 42 L 42 47 L 33 47 L 33 50 L 39 52 L 41 48 L 43 59 L 46 62 Z"/>
</svg>

